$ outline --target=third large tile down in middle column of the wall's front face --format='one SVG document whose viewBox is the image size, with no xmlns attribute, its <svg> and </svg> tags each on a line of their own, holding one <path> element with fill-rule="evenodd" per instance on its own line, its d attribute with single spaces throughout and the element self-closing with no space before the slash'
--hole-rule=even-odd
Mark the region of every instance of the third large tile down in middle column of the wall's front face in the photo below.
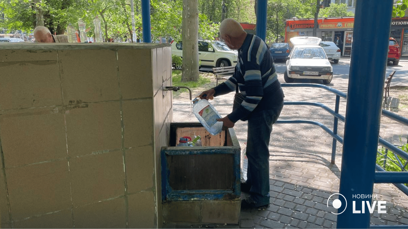
<svg viewBox="0 0 408 229">
<path fill-rule="evenodd" d="M 69 165 L 74 207 L 124 195 L 122 151 L 72 158 Z"/>
</svg>

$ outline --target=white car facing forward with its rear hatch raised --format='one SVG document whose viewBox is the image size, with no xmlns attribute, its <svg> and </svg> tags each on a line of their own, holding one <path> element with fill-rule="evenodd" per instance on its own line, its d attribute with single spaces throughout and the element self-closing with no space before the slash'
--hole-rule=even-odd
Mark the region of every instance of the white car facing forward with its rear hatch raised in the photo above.
<svg viewBox="0 0 408 229">
<path fill-rule="evenodd" d="M 327 59 L 323 48 L 319 46 L 322 39 L 318 37 L 292 37 L 294 45 L 286 57 L 286 83 L 295 79 L 322 79 L 323 84 L 330 84 L 333 79 L 333 67 Z"/>
</svg>

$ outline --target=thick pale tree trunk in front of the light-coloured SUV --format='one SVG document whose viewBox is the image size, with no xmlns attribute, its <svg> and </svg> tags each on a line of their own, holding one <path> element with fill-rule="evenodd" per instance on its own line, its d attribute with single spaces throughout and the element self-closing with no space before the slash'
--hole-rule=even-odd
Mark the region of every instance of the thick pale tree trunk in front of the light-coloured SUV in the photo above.
<svg viewBox="0 0 408 229">
<path fill-rule="evenodd" d="M 198 81 L 198 0 L 183 0 L 182 82 Z"/>
</svg>

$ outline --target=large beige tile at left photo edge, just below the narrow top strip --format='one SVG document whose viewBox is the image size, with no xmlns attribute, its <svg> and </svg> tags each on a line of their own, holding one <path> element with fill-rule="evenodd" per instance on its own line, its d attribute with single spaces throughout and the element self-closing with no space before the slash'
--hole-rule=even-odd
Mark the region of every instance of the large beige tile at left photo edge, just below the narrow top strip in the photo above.
<svg viewBox="0 0 408 229">
<path fill-rule="evenodd" d="M 0 73 L 0 110 L 62 104 L 56 59 L 0 62 Z"/>
</svg>

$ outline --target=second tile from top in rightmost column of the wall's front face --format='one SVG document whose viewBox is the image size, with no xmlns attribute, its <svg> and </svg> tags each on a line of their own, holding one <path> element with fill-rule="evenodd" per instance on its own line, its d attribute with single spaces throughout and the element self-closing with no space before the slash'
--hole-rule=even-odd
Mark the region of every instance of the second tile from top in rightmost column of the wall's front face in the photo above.
<svg viewBox="0 0 408 229">
<path fill-rule="evenodd" d="M 123 101 L 125 148 L 153 143 L 153 98 Z"/>
</svg>

